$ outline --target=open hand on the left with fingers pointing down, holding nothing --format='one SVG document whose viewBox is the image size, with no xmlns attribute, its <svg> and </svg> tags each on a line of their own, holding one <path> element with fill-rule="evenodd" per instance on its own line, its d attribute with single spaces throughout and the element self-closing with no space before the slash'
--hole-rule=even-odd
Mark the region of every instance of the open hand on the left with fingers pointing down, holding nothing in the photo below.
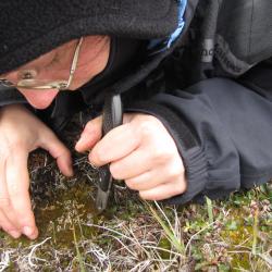
<svg viewBox="0 0 272 272">
<path fill-rule="evenodd" d="M 29 198 L 28 153 L 44 148 L 61 172 L 73 175 L 71 153 L 53 132 L 24 106 L 0 109 L 0 227 L 12 237 L 38 236 Z"/>
</svg>

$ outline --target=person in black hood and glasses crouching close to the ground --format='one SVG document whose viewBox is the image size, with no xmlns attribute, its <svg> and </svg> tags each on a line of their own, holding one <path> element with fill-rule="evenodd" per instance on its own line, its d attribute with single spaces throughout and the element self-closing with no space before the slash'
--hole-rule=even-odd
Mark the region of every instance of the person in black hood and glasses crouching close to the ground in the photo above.
<svg viewBox="0 0 272 272">
<path fill-rule="evenodd" d="M 28 153 L 73 175 L 57 135 L 89 109 L 77 141 L 148 200 L 200 201 L 272 176 L 272 9 L 247 0 L 0 3 L 0 225 L 38 236 Z M 123 124 L 101 135 L 104 98 Z"/>
</svg>

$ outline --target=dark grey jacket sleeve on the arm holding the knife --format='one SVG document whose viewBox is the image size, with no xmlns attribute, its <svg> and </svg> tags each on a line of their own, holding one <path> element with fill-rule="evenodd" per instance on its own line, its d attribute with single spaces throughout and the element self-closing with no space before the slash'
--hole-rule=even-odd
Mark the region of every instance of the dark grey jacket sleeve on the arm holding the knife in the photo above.
<svg viewBox="0 0 272 272">
<path fill-rule="evenodd" d="M 234 81 L 202 81 L 129 111 L 159 118 L 180 150 L 188 187 L 169 202 L 221 198 L 272 177 L 272 101 Z"/>
</svg>

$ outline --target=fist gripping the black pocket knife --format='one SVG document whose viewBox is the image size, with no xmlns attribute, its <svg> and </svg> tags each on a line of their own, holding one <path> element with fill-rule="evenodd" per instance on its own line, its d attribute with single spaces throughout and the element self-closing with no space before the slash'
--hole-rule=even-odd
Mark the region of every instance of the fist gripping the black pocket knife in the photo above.
<svg viewBox="0 0 272 272">
<path fill-rule="evenodd" d="M 75 146 L 79 152 L 90 150 L 96 166 L 110 163 L 115 180 L 138 190 L 141 198 L 162 200 L 186 190 L 185 171 L 176 145 L 154 116 L 124 114 L 124 124 L 101 138 L 101 116 L 89 121 Z"/>
</svg>

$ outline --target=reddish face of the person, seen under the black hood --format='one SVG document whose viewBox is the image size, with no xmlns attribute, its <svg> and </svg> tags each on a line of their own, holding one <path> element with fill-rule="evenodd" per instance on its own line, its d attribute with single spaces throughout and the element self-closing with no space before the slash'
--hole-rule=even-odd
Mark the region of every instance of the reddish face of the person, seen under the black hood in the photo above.
<svg viewBox="0 0 272 272">
<path fill-rule="evenodd" d="M 77 42 L 78 40 L 66 42 L 17 70 L 1 75 L 1 78 L 16 84 L 27 73 L 35 79 L 48 82 L 67 81 Z M 102 72 L 109 60 L 109 36 L 85 37 L 81 47 L 74 77 L 69 89 L 75 90 L 79 88 Z M 18 88 L 18 91 L 36 109 L 46 109 L 49 107 L 59 92 L 57 89 L 37 90 L 25 88 Z"/>
</svg>

